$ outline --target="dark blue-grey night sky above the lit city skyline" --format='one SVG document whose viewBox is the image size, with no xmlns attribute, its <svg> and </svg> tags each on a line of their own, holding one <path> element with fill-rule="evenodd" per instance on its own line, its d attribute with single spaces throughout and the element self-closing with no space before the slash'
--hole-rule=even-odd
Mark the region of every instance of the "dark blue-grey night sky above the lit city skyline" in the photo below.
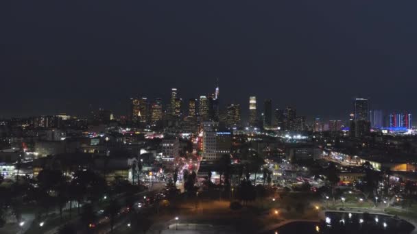
<svg viewBox="0 0 417 234">
<path fill-rule="evenodd" d="M 355 96 L 417 117 L 416 1 L 0 3 L 0 118 L 126 114 L 131 96 L 248 96 L 343 118 Z M 261 107 L 262 105 L 259 105 Z"/>
</svg>

